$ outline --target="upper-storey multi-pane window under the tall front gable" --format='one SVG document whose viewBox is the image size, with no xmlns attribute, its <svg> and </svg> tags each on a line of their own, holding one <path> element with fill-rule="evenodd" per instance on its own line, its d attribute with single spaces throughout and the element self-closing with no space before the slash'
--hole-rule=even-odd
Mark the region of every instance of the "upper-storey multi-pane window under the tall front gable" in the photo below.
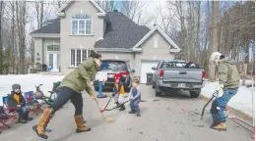
<svg viewBox="0 0 256 141">
<path fill-rule="evenodd" d="M 92 17 L 85 14 L 72 16 L 72 34 L 91 35 Z"/>
</svg>

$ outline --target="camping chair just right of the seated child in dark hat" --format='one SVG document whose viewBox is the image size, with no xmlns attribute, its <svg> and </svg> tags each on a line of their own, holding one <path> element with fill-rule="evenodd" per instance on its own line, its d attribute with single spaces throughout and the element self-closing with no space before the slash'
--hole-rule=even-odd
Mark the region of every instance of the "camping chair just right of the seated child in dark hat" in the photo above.
<svg viewBox="0 0 256 141">
<path fill-rule="evenodd" d="M 33 114 L 36 110 L 42 112 L 38 102 L 33 98 L 33 91 L 25 92 L 24 98 L 26 99 L 26 104 L 30 106 L 30 112 L 32 112 Z"/>
</svg>

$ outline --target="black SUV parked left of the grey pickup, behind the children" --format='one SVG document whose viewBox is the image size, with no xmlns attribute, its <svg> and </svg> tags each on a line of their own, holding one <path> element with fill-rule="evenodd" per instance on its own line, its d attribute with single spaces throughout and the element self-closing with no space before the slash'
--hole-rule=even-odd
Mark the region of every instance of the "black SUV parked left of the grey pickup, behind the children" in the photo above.
<svg viewBox="0 0 256 141">
<path fill-rule="evenodd" d="M 124 83 L 125 91 L 129 91 L 131 83 L 131 73 L 135 72 L 131 70 L 130 65 L 127 61 L 123 60 L 102 60 L 100 71 L 107 72 L 107 80 L 103 85 L 103 89 L 111 89 L 114 86 L 114 74 L 120 73 L 122 75 L 121 80 Z M 98 82 L 94 81 L 96 90 L 98 89 Z"/>
</svg>

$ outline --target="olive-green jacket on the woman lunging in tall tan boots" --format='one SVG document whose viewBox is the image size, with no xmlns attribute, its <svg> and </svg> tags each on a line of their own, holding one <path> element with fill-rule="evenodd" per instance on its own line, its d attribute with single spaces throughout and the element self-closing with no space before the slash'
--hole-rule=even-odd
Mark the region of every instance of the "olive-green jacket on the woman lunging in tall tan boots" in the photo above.
<svg viewBox="0 0 256 141">
<path fill-rule="evenodd" d="M 59 87 L 69 87 L 78 93 L 87 90 L 92 95 L 93 89 L 89 84 L 94 81 L 96 72 L 99 71 L 93 58 L 88 58 L 84 63 L 80 64 L 75 71 L 67 74 L 60 83 Z"/>
</svg>

